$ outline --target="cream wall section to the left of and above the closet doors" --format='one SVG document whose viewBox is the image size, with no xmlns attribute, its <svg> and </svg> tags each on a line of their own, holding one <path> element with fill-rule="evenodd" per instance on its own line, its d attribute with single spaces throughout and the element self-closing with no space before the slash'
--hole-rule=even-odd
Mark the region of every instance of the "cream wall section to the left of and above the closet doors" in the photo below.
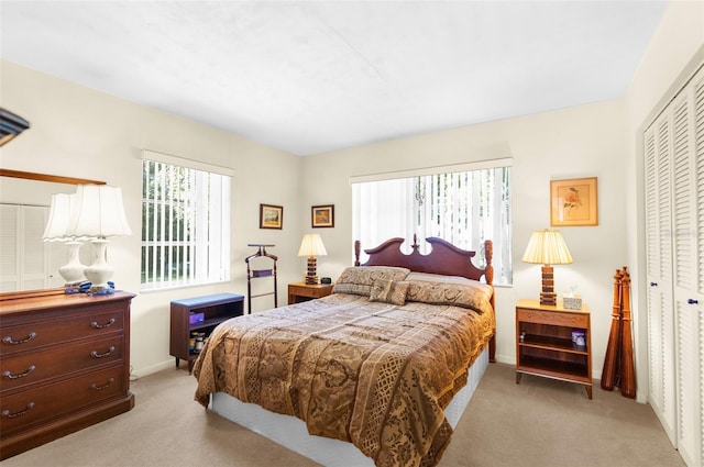
<svg viewBox="0 0 704 467">
<path fill-rule="evenodd" d="M 647 282 L 645 260 L 645 196 L 642 131 L 656 112 L 682 88 L 704 63 L 704 2 L 672 1 L 626 94 L 626 177 L 632 193 L 628 204 L 628 264 L 632 274 L 636 378 L 638 400 L 648 398 Z"/>
</svg>

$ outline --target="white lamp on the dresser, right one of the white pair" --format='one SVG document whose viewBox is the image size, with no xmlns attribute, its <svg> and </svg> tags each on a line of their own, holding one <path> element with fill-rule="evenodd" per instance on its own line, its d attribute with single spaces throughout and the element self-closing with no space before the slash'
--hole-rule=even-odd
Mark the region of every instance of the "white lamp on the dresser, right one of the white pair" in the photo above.
<svg viewBox="0 0 704 467">
<path fill-rule="evenodd" d="M 108 281 L 114 268 L 108 264 L 108 237 L 132 235 L 122 204 L 122 190 L 108 185 L 80 185 L 76 191 L 78 209 L 72 215 L 68 233 L 90 237 L 94 264 L 84 274 L 91 282 L 88 293 L 110 293 Z"/>
</svg>

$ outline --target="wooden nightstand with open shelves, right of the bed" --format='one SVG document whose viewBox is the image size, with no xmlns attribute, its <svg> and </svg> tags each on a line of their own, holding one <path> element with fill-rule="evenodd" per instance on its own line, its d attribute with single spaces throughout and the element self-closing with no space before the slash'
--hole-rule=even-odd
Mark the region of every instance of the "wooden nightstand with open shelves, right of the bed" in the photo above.
<svg viewBox="0 0 704 467">
<path fill-rule="evenodd" d="M 572 341 L 583 333 L 584 345 Z M 516 304 L 516 383 L 522 374 L 578 382 L 592 399 L 592 332 L 590 310 L 566 310 L 562 302 L 541 305 L 538 300 Z"/>
</svg>

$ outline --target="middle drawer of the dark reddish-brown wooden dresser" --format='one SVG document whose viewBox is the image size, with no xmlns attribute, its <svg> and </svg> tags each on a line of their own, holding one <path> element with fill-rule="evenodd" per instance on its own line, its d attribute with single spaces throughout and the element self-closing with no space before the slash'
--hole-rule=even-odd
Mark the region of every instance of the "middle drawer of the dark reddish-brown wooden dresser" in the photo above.
<svg viewBox="0 0 704 467">
<path fill-rule="evenodd" d="M 15 353 L 0 356 L 0 390 L 12 389 L 64 377 L 70 373 L 119 362 L 124 358 L 121 335 L 101 340 L 77 341 L 45 352 Z"/>
</svg>

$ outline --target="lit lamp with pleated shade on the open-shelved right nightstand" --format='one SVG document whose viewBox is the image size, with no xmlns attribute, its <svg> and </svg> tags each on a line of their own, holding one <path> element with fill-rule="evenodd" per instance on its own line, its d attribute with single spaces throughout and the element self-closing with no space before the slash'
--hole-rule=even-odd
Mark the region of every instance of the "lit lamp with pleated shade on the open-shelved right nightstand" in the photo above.
<svg viewBox="0 0 704 467">
<path fill-rule="evenodd" d="M 554 276 L 551 265 L 566 265 L 572 263 L 572 255 L 564 243 L 560 231 L 536 231 L 532 233 L 528 247 L 522 257 L 524 263 L 542 265 L 542 289 L 540 304 L 556 305 Z"/>
</svg>

